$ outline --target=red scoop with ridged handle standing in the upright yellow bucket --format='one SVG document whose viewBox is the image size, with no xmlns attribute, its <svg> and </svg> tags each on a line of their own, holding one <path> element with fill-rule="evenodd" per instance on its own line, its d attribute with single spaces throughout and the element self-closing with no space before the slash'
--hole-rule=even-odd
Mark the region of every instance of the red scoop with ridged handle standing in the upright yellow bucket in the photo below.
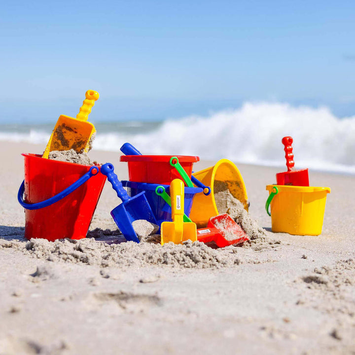
<svg viewBox="0 0 355 355">
<path fill-rule="evenodd" d="M 294 170 L 292 137 L 284 137 L 282 142 L 284 144 L 287 171 L 276 174 L 276 183 L 278 185 L 309 186 L 308 169 Z"/>
</svg>

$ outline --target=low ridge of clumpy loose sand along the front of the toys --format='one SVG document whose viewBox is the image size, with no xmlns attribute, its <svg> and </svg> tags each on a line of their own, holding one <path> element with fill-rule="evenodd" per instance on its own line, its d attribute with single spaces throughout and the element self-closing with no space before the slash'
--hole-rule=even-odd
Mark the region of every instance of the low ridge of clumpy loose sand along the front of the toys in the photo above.
<svg viewBox="0 0 355 355">
<path fill-rule="evenodd" d="M 219 268 L 240 264 L 233 249 L 212 249 L 204 243 L 186 241 L 173 243 L 120 243 L 97 242 L 94 238 L 81 240 L 61 239 L 48 242 L 32 239 L 29 242 L 0 240 L 1 248 L 13 248 L 39 259 L 99 265 L 101 267 L 144 267 L 147 265 L 175 268 Z"/>
</svg>

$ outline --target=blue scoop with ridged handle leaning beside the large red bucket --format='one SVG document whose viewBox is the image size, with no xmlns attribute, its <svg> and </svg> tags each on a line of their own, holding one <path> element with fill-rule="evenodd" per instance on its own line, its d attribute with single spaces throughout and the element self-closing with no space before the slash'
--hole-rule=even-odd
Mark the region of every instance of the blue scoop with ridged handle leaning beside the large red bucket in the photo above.
<svg viewBox="0 0 355 355">
<path fill-rule="evenodd" d="M 129 197 L 113 170 L 114 167 L 110 163 L 104 164 L 100 169 L 101 173 L 107 176 L 107 180 L 111 183 L 117 196 L 122 200 L 122 203 L 111 211 L 111 216 L 127 241 L 139 243 L 132 222 L 137 219 L 145 219 L 154 224 L 158 224 L 158 222 L 148 204 L 144 191 L 136 196 Z"/>
</svg>

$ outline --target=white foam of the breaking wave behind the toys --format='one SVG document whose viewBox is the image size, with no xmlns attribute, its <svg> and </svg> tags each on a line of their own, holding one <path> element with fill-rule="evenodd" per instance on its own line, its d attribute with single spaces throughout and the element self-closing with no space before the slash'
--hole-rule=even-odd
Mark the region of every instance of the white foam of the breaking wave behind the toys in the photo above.
<svg viewBox="0 0 355 355">
<path fill-rule="evenodd" d="M 209 116 L 166 120 L 155 130 L 138 134 L 98 132 L 96 149 L 119 151 L 131 142 L 143 154 L 198 155 L 235 162 L 285 165 L 281 139 L 294 140 L 295 167 L 355 173 L 355 116 L 337 118 L 326 107 L 245 103 Z M 0 133 L 1 141 L 45 144 L 49 134 Z"/>
</svg>

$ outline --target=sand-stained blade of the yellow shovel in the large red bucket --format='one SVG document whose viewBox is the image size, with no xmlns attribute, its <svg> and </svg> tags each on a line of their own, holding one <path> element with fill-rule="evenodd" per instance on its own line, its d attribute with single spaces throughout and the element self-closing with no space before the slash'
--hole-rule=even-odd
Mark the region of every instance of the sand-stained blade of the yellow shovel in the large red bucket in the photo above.
<svg viewBox="0 0 355 355">
<path fill-rule="evenodd" d="M 61 115 L 54 127 L 43 158 L 48 158 L 53 150 L 74 149 L 78 153 L 87 152 L 91 136 L 96 132 L 92 123 Z"/>
</svg>

